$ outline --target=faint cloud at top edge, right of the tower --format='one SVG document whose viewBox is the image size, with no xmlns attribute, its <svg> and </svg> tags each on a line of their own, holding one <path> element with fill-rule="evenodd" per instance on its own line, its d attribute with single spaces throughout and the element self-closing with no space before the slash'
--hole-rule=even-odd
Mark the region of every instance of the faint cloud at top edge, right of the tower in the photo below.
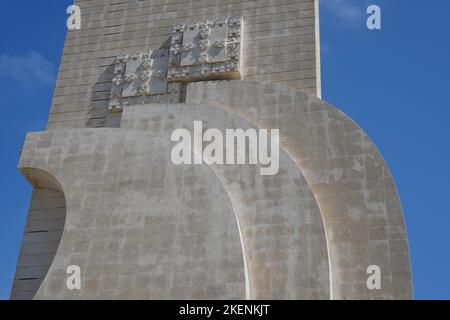
<svg viewBox="0 0 450 320">
<path fill-rule="evenodd" d="M 363 21 L 366 10 L 361 0 L 320 0 L 324 11 L 341 23 L 356 25 Z"/>
</svg>

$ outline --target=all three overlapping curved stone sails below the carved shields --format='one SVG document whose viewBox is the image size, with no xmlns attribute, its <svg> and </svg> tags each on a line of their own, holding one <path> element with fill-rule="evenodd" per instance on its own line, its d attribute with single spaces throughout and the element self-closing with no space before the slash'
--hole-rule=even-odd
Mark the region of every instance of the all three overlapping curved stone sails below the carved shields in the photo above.
<svg viewBox="0 0 450 320">
<path fill-rule="evenodd" d="M 192 83 L 186 101 L 126 107 L 117 129 L 27 136 L 19 167 L 53 176 L 67 201 L 35 298 L 412 297 L 397 190 L 353 121 L 273 83 Z M 220 130 L 279 129 L 278 174 L 173 165 L 171 133 L 198 120 Z M 71 264 L 82 267 L 85 290 L 65 288 Z M 381 267 L 381 290 L 366 286 L 370 265 Z"/>
</svg>

